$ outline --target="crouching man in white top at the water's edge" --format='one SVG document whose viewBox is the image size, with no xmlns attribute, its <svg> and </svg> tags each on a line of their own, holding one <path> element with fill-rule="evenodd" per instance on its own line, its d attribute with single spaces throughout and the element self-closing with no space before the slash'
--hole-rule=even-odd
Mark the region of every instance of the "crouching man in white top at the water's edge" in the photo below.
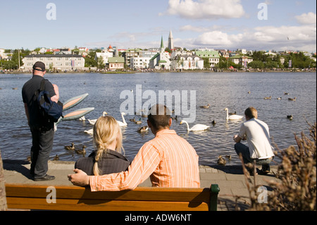
<svg viewBox="0 0 317 225">
<path fill-rule="evenodd" d="M 235 152 L 242 154 L 244 164 L 248 162 L 261 164 L 260 174 L 270 172 L 270 163 L 274 158 L 268 125 L 258 119 L 258 111 L 249 107 L 244 111 L 246 122 L 242 123 L 240 133 L 233 137 L 235 140 Z M 241 140 L 247 140 L 248 146 L 243 145 Z M 253 171 L 251 171 L 251 174 Z"/>
</svg>

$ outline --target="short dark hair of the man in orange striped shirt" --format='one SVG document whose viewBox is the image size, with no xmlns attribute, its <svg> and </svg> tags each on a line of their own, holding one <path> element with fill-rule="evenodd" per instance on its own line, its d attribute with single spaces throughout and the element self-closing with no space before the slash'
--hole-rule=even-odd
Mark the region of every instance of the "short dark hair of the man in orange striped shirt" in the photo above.
<svg viewBox="0 0 317 225">
<path fill-rule="evenodd" d="M 149 109 L 148 119 L 155 130 L 170 126 L 170 109 L 163 104 L 156 104 Z"/>
</svg>

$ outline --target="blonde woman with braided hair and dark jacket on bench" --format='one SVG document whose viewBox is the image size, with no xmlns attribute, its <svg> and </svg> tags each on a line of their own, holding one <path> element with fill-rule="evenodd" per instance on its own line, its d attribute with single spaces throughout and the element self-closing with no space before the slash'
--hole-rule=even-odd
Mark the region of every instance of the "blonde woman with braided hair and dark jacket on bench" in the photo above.
<svg viewBox="0 0 317 225">
<path fill-rule="evenodd" d="M 123 150 L 120 126 L 112 116 L 101 116 L 94 124 L 93 142 L 95 150 L 87 158 L 78 159 L 75 169 L 89 176 L 99 176 L 126 171 L 130 162 Z"/>
</svg>

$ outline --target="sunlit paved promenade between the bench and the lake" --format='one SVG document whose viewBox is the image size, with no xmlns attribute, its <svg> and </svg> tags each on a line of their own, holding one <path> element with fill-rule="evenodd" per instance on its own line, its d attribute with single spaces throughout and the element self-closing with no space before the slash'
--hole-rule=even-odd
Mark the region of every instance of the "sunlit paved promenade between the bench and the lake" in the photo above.
<svg viewBox="0 0 317 225">
<path fill-rule="evenodd" d="M 49 175 L 54 175 L 54 181 L 35 182 L 30 176 L 30 163 L 22 160 L 4 160 L 4 178 L 6 183 L 25 183 L 44 186 L 73 186 L 68 181 L 68 174 L 73 174 L 75 162 L 49 161 Z M 244 211 L 249 209 L 249 191 L 242 172 L 242 166 L 199 166 L 201 188 L 209 188 L 211 183 L 218 184 L 218 211 L 235 211 L 236 206 Z M 276 180 L 272 174 L 277 166 L 271 166 L 271 173 L 266 176 L 256 175 L 256 185 L 261 185 L 270 191 L 268 181 Z M 253 180 L 253 176 L 251 177 Z M 150 187 L 149 178 L 139 186 Z M 239 200 L 236 197 L 239 196 Z"/>
</svg>

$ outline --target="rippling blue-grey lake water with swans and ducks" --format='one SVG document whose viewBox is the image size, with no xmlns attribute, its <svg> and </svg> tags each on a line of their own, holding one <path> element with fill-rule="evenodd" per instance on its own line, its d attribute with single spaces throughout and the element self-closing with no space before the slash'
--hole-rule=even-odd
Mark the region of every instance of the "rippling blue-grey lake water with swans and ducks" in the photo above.
<svg viewBox="0 0 317 225">
<path fill-rule="evenodd" d="M 0 74 L 0 150 L 3 159 L 26 159 L 30 155 L 31 135 L 27 126 L 24 112 L 21 90 L 23 84 L 31 78 L 31 74 Z M 136 73 L 136 74 L 46 74 L 45 77 L 58 85 L 61 102 L 89 93 L 85 101 L 70 109 L 68 112 L 94 107 L 95 110 L 87 114 L 86 118 L 99 118 L 103 111 L 122 121 L 120 105 L 125 99 L 120 99 L 121 92 L 133 90 L 132 95 L 137 96 L 137 91 L 155 92 L 159 97 L 160 90 L 176 91 L 180 94 L 188 92 L 188 105 L 190 97 L 196 97 L 196 117 L 192 127 L 197 123 L 211 126 L 210 130 L 199 133 L 187 133 L 185 124 L 180 125 L 182 118 L 178 115 L 178 121 L 173 120 L 172 129 L 178 135 L 188 140 L 197 150 L 199 164 L 216 164 L 218 156 L 232 155 L 228 165 L 240 164 L 240 159 L 235 154 L 233 135 L 239 132 L 244 121 L 225 121 L 225 108 L 244 115 L 247 107 L 255 107 L 259 111 L 259 119 L 268 123 L 273 142 L 285 149 L 290 145 L 296 145 L 294 133 L 307 133 L 306 121 L 316 122 L 316 73 Z M 18 90 L 13 90 L 18 87 Z M 139 88 L 139 90 L 136 90 Z M 140 90 L 142 88 L 142 90 Z M 196 95 L 189 96 L 190 90 L 195 90 Z M 130 91 L 131 92 L 131 91 Z M 250 92 L 250 94 L 248 94 Z M 289 92 L 290 95 L 284 95 Z M 271 96 L 271 100 L 264 97 Z M 278 100 L 278 97 L 282 97 Z M 297 97 L 296 102 L 290 102 L 289 97 Z M 126 98 L 126 97 L 125 97 Z M 150 97 L 142 99 L 145 104 Z M 136 99 L 134 99 L 134 102 Z M 177 101 L 177 99 L 175 99 Z M 173 102 L 175 103 L 175 102 Z M 201 105 L 211 104 L 209 109 L 201 109 Z M 174 107 L 174 105 L 173 105 Z M 287 115 L 294 117 L 292 121 Z M 130 118 L 141 118 L 142 124 L 130 122 Z M 123 146 L 125 156 L 132 161 L 144 142 L 154 138 L 149 132 L 137 133 L 137 128 L 147 124 L 147 118 L 136 115 L 127 115 L 128 123 L 123 128 Z M 216 121 L 212 126 L 211 121 Z M 76 161 L 81 155 L 67 152 L 65 145 L 71 142 L 81 148 L 87 146 L 86 156 L 92 152 L 92 136 L 84 132 L 91 129 L 88 121 L 62 121 L 58 124 L 54 138 L 54 148 L 51 159 L 56 154 L 60 160 Z M 278 159 L 276 159 L 278 161 Z"/>
</svg>

